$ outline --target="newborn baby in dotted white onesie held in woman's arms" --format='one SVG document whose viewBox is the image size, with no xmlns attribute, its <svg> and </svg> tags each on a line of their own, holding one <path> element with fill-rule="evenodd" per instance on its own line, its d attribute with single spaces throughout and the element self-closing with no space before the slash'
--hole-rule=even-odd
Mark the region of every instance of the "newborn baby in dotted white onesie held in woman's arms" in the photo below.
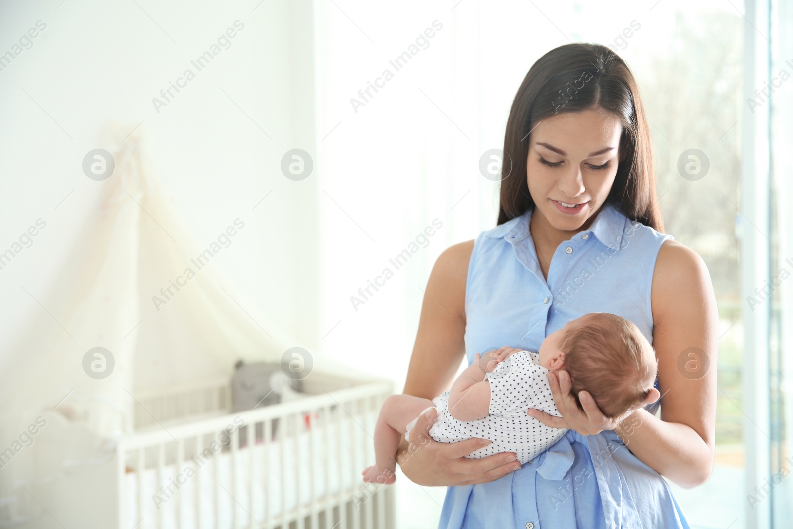
<svg viewBox="0 0 793 529">
<path fill-rule="evenodd" d="M 401 435 L 408 438 L 418 417 L 431 408 L 438 410 L 429 431 L 435 441 L 489 439 L 490 444 L 465 457 L 515 452 L 525 463 L 567 432 L 527 414 L 536 408 L 560 416 L 546 379 L 549 371 L 566 370 L 578 407 L 584 409 L 578 393 L 586 390 L 609 419 L 634 412 L 653 389 L 655 351 L 636 325 L 620 316 L 584 314 L 546 336 L 539 349 L 501 347 L 482 357 L 477 353 L 451 389 L 432 401 L 405 394 L 387 397 L 374 430 L 375 465 L 362 472 L 363 481 L 395 481 L 393 457 Z"/>
</svg>

